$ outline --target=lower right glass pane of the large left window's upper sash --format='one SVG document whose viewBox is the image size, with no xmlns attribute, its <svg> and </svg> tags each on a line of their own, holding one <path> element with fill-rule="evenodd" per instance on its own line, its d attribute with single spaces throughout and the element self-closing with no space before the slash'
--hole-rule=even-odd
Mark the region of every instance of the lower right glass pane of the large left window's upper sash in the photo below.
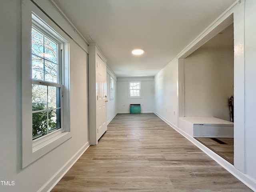
<svg viewBox="0 0 256 192">
<path fill-rule="evenodd" d="M 53 82 L 53 83 L 58 83 L 57 82 L 58 65 L 48 61 L 45 61 L 44 65 L 45 65 L 44 80 Z"/>
</svg>

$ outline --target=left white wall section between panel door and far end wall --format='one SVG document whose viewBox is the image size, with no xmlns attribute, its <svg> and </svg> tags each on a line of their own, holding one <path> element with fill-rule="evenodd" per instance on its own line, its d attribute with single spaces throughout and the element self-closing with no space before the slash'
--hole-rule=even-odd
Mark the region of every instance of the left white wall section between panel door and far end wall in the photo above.
<svg viewBox="0 0 256 192">
<path fill-rule="evenodd" d="M 114 81 L 114 98 L 110 100 L 110 76 Z M 116 75 L 107 67 L 107 122 L 110 121 L 116 116 L 117 113 L 117 77 Z"/>
</svg>

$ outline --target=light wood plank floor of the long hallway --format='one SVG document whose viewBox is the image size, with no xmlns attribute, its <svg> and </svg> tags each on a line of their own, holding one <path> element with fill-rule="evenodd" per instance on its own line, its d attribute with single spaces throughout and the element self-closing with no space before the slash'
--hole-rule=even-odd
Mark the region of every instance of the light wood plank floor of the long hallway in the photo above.
<svg viewBox="0 0 256 192">
<path fill-rule="evenodd" d="M 118 114 L 52 192 L 250 192 L 155 114 Z"/>
</svg>

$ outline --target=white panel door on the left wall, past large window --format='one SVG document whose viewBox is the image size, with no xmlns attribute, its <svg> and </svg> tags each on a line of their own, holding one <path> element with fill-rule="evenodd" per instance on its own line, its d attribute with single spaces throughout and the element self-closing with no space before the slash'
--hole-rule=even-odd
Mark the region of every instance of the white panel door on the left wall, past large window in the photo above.
<svg viewBox="0 0 256 192">
<path fill-rule="evenodd" d="M 106 132 L 107 130 L 107 110 L 106 110 L 106 100 L 107 98 L 107 82 L 106 82 L 106 63 L 96 55 L 96 126 L 97 126 L 97 140 Z"/>
</svg>

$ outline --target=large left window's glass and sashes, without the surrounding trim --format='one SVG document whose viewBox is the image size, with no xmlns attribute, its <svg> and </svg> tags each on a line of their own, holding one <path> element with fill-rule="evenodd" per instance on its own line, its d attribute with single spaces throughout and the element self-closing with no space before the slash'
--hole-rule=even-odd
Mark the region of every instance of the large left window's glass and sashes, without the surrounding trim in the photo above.
<svg viewBox="0 0 256 192">
<path fill-rule="evenodd" d="M 32 27 L 32 138 L 61 128 L 61 50 L 42 30 Z"/>
</svg>

